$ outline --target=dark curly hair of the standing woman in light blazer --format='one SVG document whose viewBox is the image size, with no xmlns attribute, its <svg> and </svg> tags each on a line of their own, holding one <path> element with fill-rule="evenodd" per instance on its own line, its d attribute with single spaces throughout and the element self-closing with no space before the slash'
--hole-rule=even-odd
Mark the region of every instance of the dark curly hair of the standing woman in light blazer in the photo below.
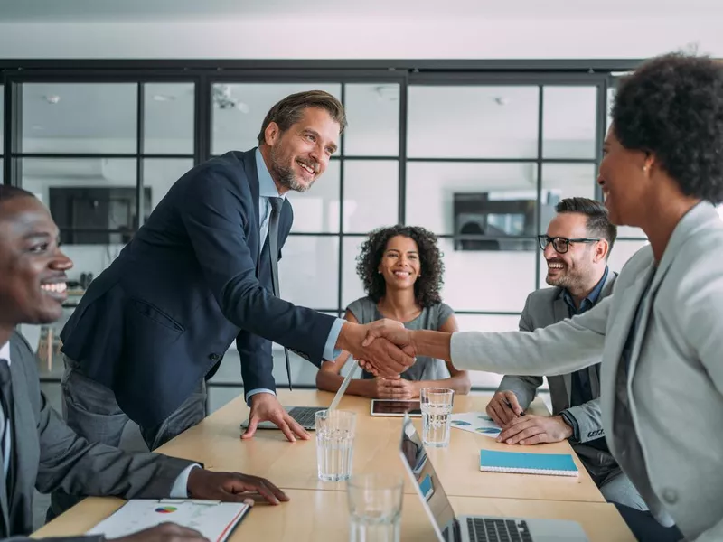
<svg viewBox="0 0 723 542">
<path fill-rule="evenodd" d="M 685 195 L 723 201 L 723 66 L 667 54 L 622 80 L 612 109 L 624 148 L 654 154 Z"/>
</svg>

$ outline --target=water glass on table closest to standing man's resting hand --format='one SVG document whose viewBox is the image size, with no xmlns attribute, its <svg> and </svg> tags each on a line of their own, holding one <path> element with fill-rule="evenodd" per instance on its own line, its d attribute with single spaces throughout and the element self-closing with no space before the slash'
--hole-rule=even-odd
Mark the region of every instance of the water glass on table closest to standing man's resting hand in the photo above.
<svg viewBox="0 0 723 542">
<path fill-rule="evenodd" d="M 356 414 L 347 410 L 320 410 L 315 414 L 315 423 L 319 480 L 349 480 Z"/>
</svg>

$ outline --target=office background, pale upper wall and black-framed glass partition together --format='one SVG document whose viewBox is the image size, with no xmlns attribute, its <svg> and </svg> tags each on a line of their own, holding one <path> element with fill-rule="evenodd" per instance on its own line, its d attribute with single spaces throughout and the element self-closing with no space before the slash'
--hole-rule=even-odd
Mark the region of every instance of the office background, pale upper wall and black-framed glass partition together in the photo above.
<svg viewBox="0 0 723 542">
<path fill-rule="evenodd" d="M 255 146 L 278 99 L 324 89 L 350 126 L 314 188 L 289 195 L 283 297 L 343 314 L 363 294 L 355 258 L 367 232 L 406 223 L 439 237 L 443 298 L 462 331 L 516 329 L 527 294 L 545 285 L 535 236 L 555 203 L 600 197 L 615 80 L 662 52 L 722 52 L 721 8 L 458 4 L 323 0 L 310 14 L 286 0 L 0 2 L 3 182 L 52 210 L 77 298 L 192 165 Z M 645 242 L 621 228 L 611 269 Z M 23 326 L 56 406 L 62 323 Z M 314 367 L 294 357 L 292 368 L 296 386 L 314 385 Z M 473 385 L 499 379 L 475 373 Z M 241 391 L 232 346 L 211 410 Z"/>
</svg>

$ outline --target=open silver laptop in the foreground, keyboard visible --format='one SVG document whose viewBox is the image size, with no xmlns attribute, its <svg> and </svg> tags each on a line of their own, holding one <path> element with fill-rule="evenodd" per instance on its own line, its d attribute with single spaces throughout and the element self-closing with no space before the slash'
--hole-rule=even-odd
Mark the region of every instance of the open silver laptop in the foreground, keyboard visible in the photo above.
<svg viewBox="0 0 723 542">
<path fill-rule="evenodd" d="M 455 516 L 422 439 L 408 416 L 402 424 L 399 455 L 432 520 L 439 542 L 589 542 L 582 526 L 575 521 Z"/>
</svg>

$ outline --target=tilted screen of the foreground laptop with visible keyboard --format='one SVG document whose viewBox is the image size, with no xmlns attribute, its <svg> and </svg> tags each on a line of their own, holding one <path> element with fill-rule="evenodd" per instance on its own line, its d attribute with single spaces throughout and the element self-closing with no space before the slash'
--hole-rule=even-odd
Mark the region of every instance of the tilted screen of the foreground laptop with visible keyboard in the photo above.
<svg viewBox="0 0 723 542">
<path fill-rule="evenodd" d="M 422 504 L 436 523 L 437 535 L 440 535 L 447 527 L 452 525 L 455 512 L 445 490 L 442 488 L 432 462 L 427 457 L 427 452 L 425 452 L 422 445 L 422 439 L 408 417 L 405 417 L 402 424 L 399 453 L 405 466 L 408 467 L 408 473 L 411 474 L 417 484 L 419 493 L 422 496 Z"/>
</svg>

